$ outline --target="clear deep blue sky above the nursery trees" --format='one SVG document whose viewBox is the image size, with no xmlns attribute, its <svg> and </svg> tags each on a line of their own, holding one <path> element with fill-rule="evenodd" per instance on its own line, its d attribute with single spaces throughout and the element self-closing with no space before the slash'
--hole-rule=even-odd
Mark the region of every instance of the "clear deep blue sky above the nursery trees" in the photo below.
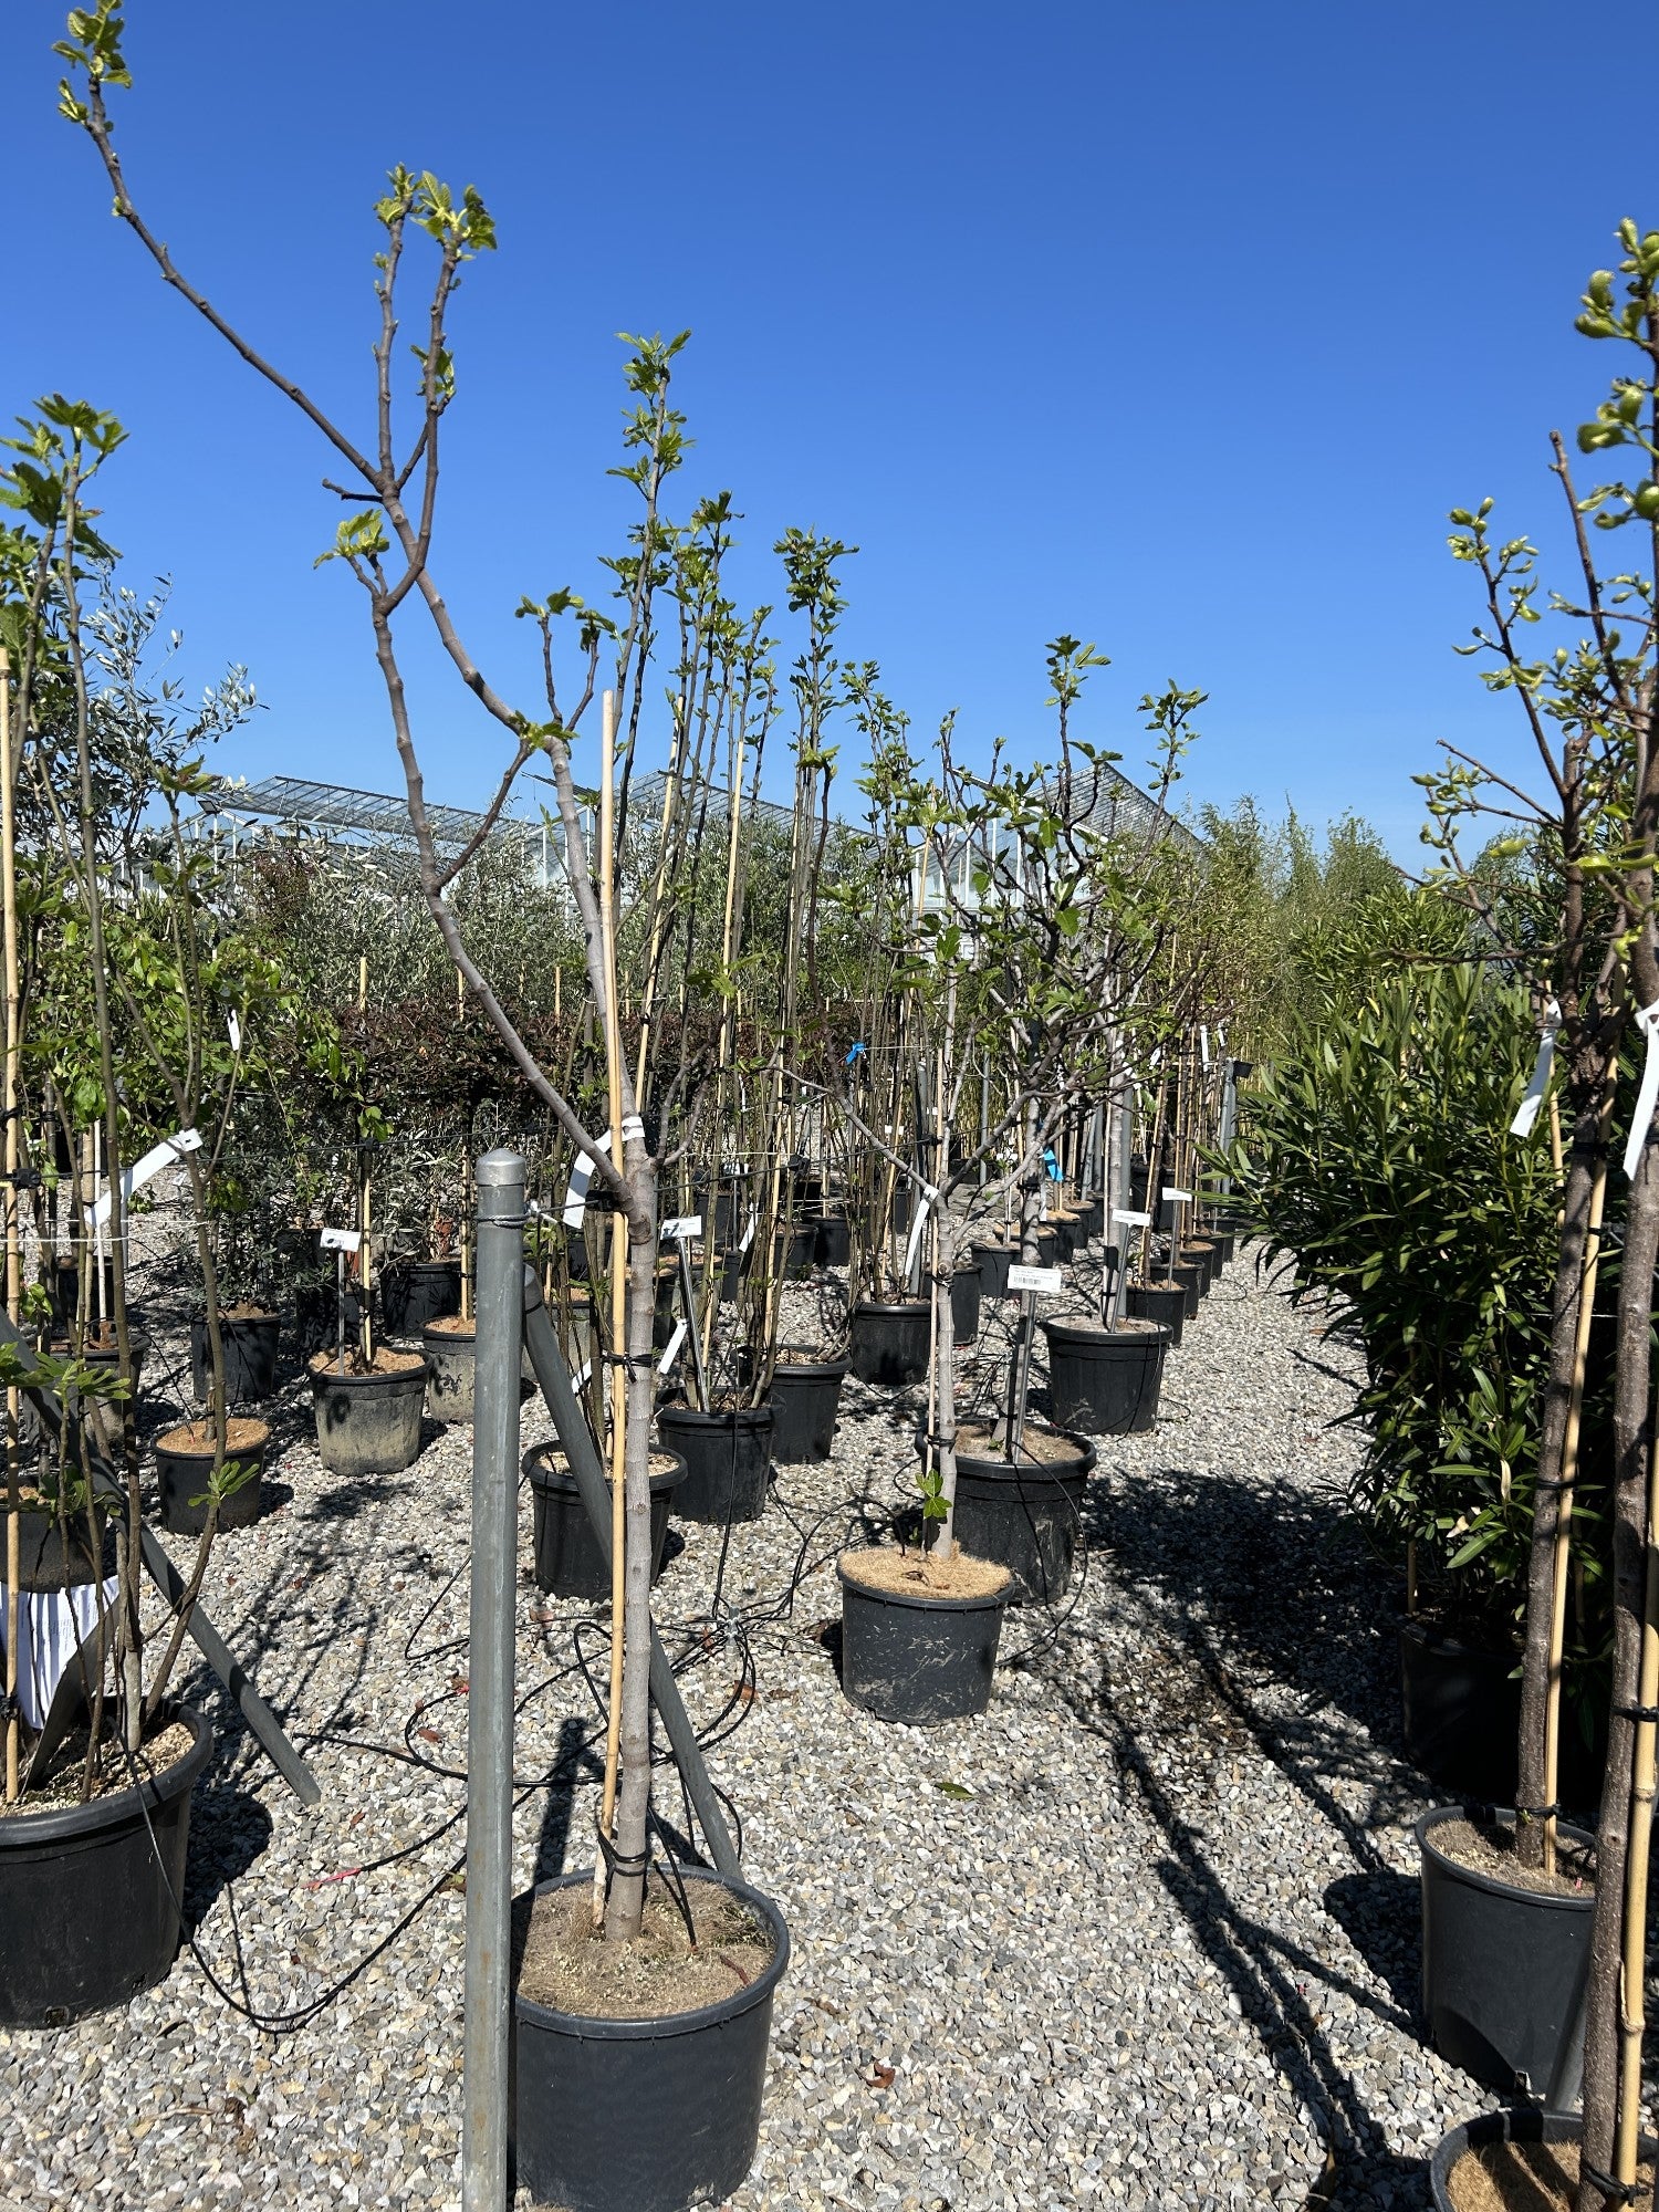
<svg viewBox="0 0 1659 2212">
<path fill-rule="evenodd" d="M 268 701 L 226 770 L 396 790 L 358 595 L 312 568 L 325 453 L 111 221 L 60 27 L 0 27 L 4 411 L 62 389 L 128 425 L 128 573 L 173 577 L 192 679 L 239 659 Z M 1113 657 L 1079 728 L 1126 768 L 1177 677 L 1210 692 L 1188 796 L 1354 807 L 1409 856 L 1436 739 L 1526 763 L 1451 650 L 1478 608 L 1444 511 L 1491 493 L 1559 546 L 1546 434 L 1615 367 L 1577 294 L 1621 215 L 1659 221 L 1571 38 L 1540 0 L 133 0 L 117 128 L 179 263 L 354 425 L 383 170 L 480 186 L 436 571 L 526 703 L 513 604 L 599 595 L 630 520 L 615 332 L 690 325 L 681 500 L 732 489 L 741 597 L 781 597 L 787 524 L 830 531 L 860 546 L 843 644 L 922 730 L 953 706 L 1040 754 L 1073 630 Z M 429 792 L 480 799 L 493 728 L 409 664 Z"/>
</svg>

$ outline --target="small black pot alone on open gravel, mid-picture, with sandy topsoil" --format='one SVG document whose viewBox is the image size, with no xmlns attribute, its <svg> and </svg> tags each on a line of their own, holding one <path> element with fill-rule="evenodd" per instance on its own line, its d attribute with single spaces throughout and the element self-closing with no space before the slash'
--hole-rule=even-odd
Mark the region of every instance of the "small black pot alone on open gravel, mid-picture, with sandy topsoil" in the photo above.
<svg viewBox="0 0 1659 2212">
<path fill-rule="evenodd" d="M 841 1575 L 841 1688 L 878 1721 L 931 1728 L 991 1703 L 1009 1590 L 911 1597 Z"/>
</svg>

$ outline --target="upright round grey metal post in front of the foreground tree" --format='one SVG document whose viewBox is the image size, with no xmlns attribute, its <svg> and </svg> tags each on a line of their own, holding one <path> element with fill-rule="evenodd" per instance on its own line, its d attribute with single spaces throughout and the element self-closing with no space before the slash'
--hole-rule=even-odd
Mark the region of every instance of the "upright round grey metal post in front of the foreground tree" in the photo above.
<svg viewBox="0 0 1659 2212">
<path fill-rule="evenodd" d="M 467 1657 L 467 2024 L 460 2197 L 507 2208 L 507 1973 L 513 1916 L 513 1601 L 524 1161 L 478 1161 L 473 1548 Z"/>
</svg>

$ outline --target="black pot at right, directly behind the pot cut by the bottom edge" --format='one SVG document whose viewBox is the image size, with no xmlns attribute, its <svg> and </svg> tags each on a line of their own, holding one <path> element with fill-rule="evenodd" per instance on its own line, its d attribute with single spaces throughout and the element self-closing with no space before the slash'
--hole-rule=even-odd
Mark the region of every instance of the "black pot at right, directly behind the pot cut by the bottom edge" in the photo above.
<svg viewBox="0 0 1659 2212">
<path fill-rule="evenodd" d="M 1422 2015 L 1436 2051 L 1491 2088 L 1542 2097 L 1555 2079 L 1590 1971 L 1595 1891 L 1551 1896 L 1460 1867 L 1433 1838 L 1462 1805 L 1425 1812 Z M 1509 1827 L 1513 1814 L 1500 1814 Z M 1595 1836 L 1562 1825 L 1577 1845 Z"/>
</svg>

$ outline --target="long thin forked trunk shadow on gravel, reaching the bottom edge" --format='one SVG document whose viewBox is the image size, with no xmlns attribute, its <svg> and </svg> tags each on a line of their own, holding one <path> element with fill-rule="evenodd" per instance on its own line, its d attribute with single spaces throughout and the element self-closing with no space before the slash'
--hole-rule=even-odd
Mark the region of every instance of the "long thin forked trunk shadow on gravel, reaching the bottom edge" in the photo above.
<svg viewBox="0 0 1659 2212">
<path fill-rule="evenodd" d="M 1325 2146 L 1325 2170 L 1305 2203 L 1371 2212 L 1383 2205 L 1422 2203 L 1425 2166 L 1389 2150 L 1367 2112 L 1352 2077 L 1343 2070 L 1318 2024 L 1310 1991 L 1338 1989 L 1394 2026 L 1409 2017 L 1378 2004 L 1376 1995 L 1314 1958 L 1301 1944 L 1245 1913 L 1203 1851 L 1203 1834 L 1192 1827 L 1152 1772 L 1135 1721 L 1119 1710 L 1102 1670 L 1093 1690 L 1079 1681 L 1066 1699 L 1077 1721 L 1102 1736 L 1157 1823 L 1168 1845 L 1157 1860 L 1157 1878 L 1192 1929 L 1206 1958 L 1228 1982 L 1241 2015 L 1261 2037 L 1290 2095 L 1310 2112 Z"/>
</svg>

